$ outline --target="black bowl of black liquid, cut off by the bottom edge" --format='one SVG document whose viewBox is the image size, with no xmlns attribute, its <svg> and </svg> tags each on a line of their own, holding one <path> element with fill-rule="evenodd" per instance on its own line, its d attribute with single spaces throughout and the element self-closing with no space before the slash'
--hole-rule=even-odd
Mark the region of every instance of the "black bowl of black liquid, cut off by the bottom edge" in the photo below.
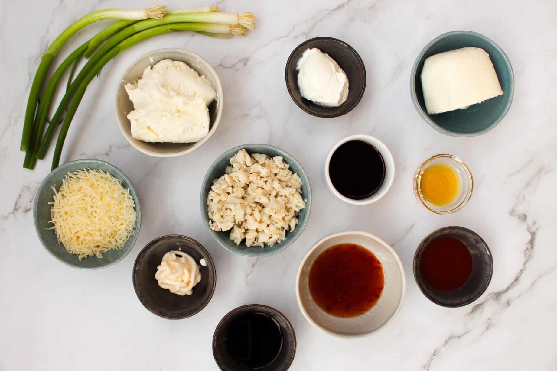
<svg viewBox="0 0 557 371">
<path fill-rule="evenodd" d="M 244 305 L 229 312 L 217 325 L 213 355 L 225 371 L 285 371 L 296 353 L 290 321 L 266 305 Z"/>
</svg>

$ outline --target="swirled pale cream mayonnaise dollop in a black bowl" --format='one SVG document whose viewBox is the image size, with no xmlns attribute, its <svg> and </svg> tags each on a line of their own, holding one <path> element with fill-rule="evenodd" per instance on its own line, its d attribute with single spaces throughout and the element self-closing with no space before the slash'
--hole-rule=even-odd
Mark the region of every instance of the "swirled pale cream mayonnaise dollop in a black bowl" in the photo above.
<svg viewBox="0 0 557 371">
<path fill-rule="evenodd" d="M 177 295 L 191 295 L 193 287 L 201 281 L 196 261 L 182 251 L 168 251 L 157 267 L 155 279 L 163 289 Z"/>
</svg>

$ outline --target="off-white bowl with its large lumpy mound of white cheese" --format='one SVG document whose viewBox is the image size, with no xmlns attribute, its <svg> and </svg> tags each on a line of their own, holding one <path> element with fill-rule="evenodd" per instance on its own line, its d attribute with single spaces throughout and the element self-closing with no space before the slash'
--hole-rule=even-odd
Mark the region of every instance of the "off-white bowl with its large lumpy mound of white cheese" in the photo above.
<svg viewBox="0 0 557 371">
<path fill-rule="evenodd" d="M 179 48 L 141 56 L 116 89 L 116 119 L 126 140 L 146 155 L 174 157 L 203 145 L 217 130 L 222 86 L 202 57 Z"/>
</svg>

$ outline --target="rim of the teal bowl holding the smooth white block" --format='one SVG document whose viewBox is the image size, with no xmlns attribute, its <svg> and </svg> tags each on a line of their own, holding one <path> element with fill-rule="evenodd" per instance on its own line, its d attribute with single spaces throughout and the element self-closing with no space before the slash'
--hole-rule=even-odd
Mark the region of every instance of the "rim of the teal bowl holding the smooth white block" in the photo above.
<svg viewBox="0 0 557 371">
<path fill-rule="evenodd" d="M 511 72 L 511 81 L 510 81 L 510 84 L 509 84 L 510 99 L 506 103 L 506 106 L 505 106 L 503 112 L 501 113 L 499 118 L 497 118 L 497 120 L 495 120 L 493 123 L 491 123 L 490 126 L 486 127 L 483 130 L 473 132 L 473 133 L 457 133 L 457 132 L 452 132 L 452 131 L 449 131 L 445 128 L 442 128 L 441 126 L 438 126 L 435 122 L 433 122 L 433 120 L 431 120 L 431 118 L 429 118 L 429 115 L 427 114 L 427 112 L 424 112 L 424 110 L 422 110 L 422 107 L 419 105 L 418 100 L 416 98 L 416 84 L 414 84 L 414 81 L 416 80 L 416 70 L 417 70 L 419 62 L 422 60 L 423 56 L 426 54 L 426 52 L 429 50 L 429 48 L 431 48 L 431 46 L 434 43 L 438 42 L 439 40 L 441 40 L 441 39 L 443 39 L 447 36 L 452 36 L 452 35 L 455 35 L 455 34 L 473 35 L 473 36 L 482 38 L 485 41 L 487 41 L 488 43 L 492 44 L 497 49 L 497 51 L 499 51 L 501 53 L 501 56 L 503 56 L 503 59 L 505 60 L 507 66 L 509 66 L 509 71 Z M 412 96 L 412 102 L 414 103 L 414 107 L 416 107 L 416 110 L 418 111 L 419 115 L 422 116 L 422 118 L 427 123 L 429 123 L 429 125 L 432 126 L 438 132 L 446 134 L 446 135 L 450 135 L 450 136 L 456 136 L 456 137 L 478 136 L 478 135 L 483 135 L 483 134 L 487 133 L 488 131 L 491 131 L 494 127 L 496 127 L 499 124 L 499 122 L 501 122 L 501 120 L 503 120 L 503 117 L 506 116 L 507 112 L 509 112 L 509 109 L 510 109 L 511 103 L 512 103 L 512 98 L 515 95 L 515 74 L 514 74 L 514 71 L 512 71 L 512 65 L 511 65 L 511 61 L 509 60 L 509 57 L 501 49 L 501 47 L 499 45 L 497 45 L 492 39 L 490 39 L 486 36 L 483 36 L 481 33 L 473 32 L 473 31 L 465 31 L 465 30 L 449 31 L 449 32 L 445 32 L 443 34 L 440 34 L 439 36 L 434 38 L 419 53 L 418 57 L 416 58 L 416 61 L 414 62 L 414 66 L 412 67 L 412 73 L 410 74 L 410 93 L 411 93 L 410 95 Z"/>
</svg>

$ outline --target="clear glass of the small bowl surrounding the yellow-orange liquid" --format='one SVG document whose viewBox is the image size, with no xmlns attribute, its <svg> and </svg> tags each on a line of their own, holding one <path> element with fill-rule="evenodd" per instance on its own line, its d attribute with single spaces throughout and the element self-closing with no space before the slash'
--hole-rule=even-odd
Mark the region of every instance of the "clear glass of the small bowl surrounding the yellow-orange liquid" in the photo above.
<svg viewBox="0 0 557 371">
<path fill-rule="evenodd" d="M 461 180 L 461 191 L 460 195 L 456 198 L 455 201 L 451 202 L 448 205 L 438 206 L 433 205 L 431 202 L 427 201 L 425 197 L 422 195 L 422 191 L 420 189 L 420 182 L 422 180 L 423 171 L 433 165 L 433 164 L 446 164 L 451 166 L 453 169 L 456 170 L 457 174 L 460 175 Z M 470 196 L 472 196 L 472 189 L 474 187 L 474 181 L 472 179 L 472 173 L 468 166 L 456 156 L 448 155 L 448 154 L 439 154 L 433 157 L 429 157 L 426 161 L 422 163 L 416 170 L 416 174 L 414 174 L 414 195 L 418 201 L 429 211 L 434 212 L 435 214 L 452 214 L 456 212 L 464 205 L 468 203 L 470 200 Z"/>
</svg>

